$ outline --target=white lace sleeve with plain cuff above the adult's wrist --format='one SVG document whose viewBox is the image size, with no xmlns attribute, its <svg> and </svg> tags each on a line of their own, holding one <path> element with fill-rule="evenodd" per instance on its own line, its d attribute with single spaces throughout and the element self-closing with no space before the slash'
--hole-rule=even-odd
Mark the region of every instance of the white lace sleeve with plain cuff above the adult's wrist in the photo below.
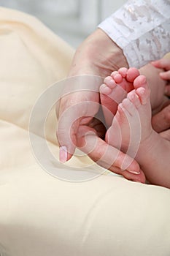
<svg viewBox="0 0 170 256">
<path fill-rule="evenodd" d="M 170 51 L 170 0 L 132 0 L 99 26 L 123 49 L 129 67 Z"/>
</svg>

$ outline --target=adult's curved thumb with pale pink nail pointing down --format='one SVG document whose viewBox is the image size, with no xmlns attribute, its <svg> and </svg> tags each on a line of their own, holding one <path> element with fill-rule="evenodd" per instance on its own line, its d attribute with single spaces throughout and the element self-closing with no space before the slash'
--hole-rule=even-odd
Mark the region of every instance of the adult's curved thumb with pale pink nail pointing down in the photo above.
<svg viewBox="0 0 170 256">
<path fill-rule="evenodd" d="M 97 102 L 77 102 L 64 110 L 58 118 L 57 138 L 60 145 L 60 160 L 66 162 L 77 146 L 77 131 L 88 124 L 98 111 Z"/>
</svg>

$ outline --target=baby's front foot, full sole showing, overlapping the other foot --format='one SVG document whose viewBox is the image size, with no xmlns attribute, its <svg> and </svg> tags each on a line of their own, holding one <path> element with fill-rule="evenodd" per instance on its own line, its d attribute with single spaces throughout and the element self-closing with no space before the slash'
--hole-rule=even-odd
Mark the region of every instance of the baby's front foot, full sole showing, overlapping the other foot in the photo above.
<svg viewBox="0 0 170 256">
<path fill-rule="evenodd" d="M 150 89 L 144 75 L 139 75 L 134 80 L 134 90 L 118 105 L 106 142 L 134 158 L 152 133 L 151 116 Z"/>
</svg>

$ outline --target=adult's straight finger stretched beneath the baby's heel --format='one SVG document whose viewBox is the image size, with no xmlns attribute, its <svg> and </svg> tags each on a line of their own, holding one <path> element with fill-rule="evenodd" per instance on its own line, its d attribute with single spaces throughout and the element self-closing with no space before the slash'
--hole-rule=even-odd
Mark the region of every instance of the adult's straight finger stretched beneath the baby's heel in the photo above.
<svg viewBox="0 0 170 256">
<path fill-rule="evenodd" d="M 90 127 L 80 127 L 77 134 L 79 148 L 98 165 L 133 181 L 145 183 L 145 176 L 135 159 L 109 146 L 98 138 Z M 124 168 L 125 167 L 125 168 Z"/>
</svg>

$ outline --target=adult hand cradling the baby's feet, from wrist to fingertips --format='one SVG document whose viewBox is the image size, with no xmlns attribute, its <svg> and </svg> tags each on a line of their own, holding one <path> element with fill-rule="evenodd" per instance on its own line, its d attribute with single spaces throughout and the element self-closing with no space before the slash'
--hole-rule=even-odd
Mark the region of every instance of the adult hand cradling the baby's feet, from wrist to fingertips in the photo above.
<svg viewBox="0 0 170 256">
<path fill-rule="evenodd" d="M 113 70 L 117 70 L 120 67 L 128 67 L 123 51 L 109 39 L 104 31 L 97 29 L 77 49 L 69 77 L 80 76 L 81 79 L 81 75 L 87 74 L 105 78 Z M 100 85 L 101 80 L 97 85 L 98 88 Z M 70 86 L 74 89 L 74 83 L 69 84 L 69 90 L 71 88 Z M 92 108 L 89 102 L 95 103 L 96 105 Z M 83 133 L 85 130 L 86 132 L 91 132 L 91 129 L 93 129 L 93 116 L 98 112 L 98 103 L 99 93 L 93 90 L 83 92 L 80 90 L 62 97 L 60 106 L 57 108 L 57 136 L 59 145 L 61 146 L 61 162 L 66 162 L 70 159 L 72 154 L 74 154 L 75 147 L 82 146 L 81 143 L 87 140 L 88 143 L 84 146 L 84 151 L 91 159 L 98 162 L 98 165 L 133 181 L 144 182 L 145 177 L 142 170 L 140 170 L 140 174 L 136 174 L 139 173 L 140 168 L 134 159 L 126 156 L 116 148 L 107 145 L 104 140 L 99 138 L 102 134 L 101 126 L 98 126 L 98 131 L 93 136 L 85 136 Z M 78 137 L 77 134 L 79 135 Z M 96 140 L 96 146 L 93 147 L 93 150 L 88 151 L 88 145 L 90 145 L 93 139 Z M 106 152 L 107 154 L 105 154 Z M 126 162 L 126 170 L 123 170 L 123 161 Z"/>
</svg>

